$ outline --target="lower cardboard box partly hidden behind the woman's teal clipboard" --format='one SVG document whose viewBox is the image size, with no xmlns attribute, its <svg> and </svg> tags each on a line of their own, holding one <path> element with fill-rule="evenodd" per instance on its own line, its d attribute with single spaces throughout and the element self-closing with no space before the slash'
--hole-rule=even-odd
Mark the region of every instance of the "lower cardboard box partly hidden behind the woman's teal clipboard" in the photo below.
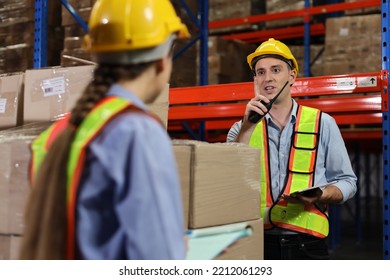
<svg viewBox="0 0 390 280">
<path fill-rule="evenodd" d="M 226 248 L 216 260 L 263 260 L 264 259 L 264 224 L 263 219 L 247 221 L 252 234 L 239 239 Z"/>
</svg>

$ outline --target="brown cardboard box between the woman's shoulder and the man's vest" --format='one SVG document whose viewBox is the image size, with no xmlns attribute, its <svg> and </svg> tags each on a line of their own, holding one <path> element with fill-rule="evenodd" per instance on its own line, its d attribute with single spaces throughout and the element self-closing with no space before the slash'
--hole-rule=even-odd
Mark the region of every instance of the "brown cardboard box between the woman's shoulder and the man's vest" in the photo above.
<svg viewBox="0 0 390 280">
<path fill-rule="evenodd" d="M 188 228 L 196 229 L 260 218 L 260 152 L 239 143 L 173 140 L 189 193 Z M 180 152 L 187 157 L 178 156 Z M 190 160 L 188 160 L 190 157 Z M 190 176 L 190 179 L 186 178 Z M 188 196 L 184 196 L 187 199 Z"/>
</svg>

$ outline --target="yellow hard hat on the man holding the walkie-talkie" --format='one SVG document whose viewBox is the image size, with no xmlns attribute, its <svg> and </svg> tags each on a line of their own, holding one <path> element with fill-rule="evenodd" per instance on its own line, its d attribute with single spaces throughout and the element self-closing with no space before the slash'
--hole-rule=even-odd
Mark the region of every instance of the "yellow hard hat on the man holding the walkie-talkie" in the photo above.
<svg viewBox="0 0 390 280">
<path fill-rule="evenodd" d="M 284 43 L 275 40 L 274 38 L 270 38 L 268 41 L 263 42 L 253 53 L 248 55 L 247 62 L 252 70 L 254 67 L 253 62 L 257 62 L 257 60 L 262 56 L 276 56 L 285 60 L 292 69 L 297 70 L 297 73 L 299 72 L 298 62 L 291 53 L 290 49 Z"/>
</svg>

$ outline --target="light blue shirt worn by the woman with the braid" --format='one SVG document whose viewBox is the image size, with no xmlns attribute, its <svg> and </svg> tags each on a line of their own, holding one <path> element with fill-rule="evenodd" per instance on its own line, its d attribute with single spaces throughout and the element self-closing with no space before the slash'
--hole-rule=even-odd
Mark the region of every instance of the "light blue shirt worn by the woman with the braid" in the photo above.
<svg viewBox="0 0 390 280">
<path fill-rule="evenodd" d="M 109 96 L 145 104 L 119 85 Z M 77 197 L 81 259 L 184 259 L 184 225 L 169 136 L 153 118 L 123 113 L 90 143 Z"/>
</svg>

